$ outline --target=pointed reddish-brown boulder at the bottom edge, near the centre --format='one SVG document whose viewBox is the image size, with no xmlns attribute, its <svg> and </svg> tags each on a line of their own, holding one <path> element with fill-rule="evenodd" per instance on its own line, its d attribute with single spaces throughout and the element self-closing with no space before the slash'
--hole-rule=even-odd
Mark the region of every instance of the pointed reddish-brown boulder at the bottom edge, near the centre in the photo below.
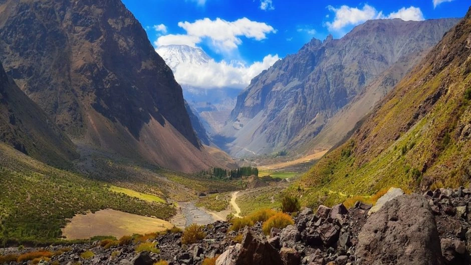
<svg viewBox="0 0 471 265">
<path fill-rule="evenodd" d="M 267 241 L 265 236 L 257 236 L 249 227 L 246 227 L 242 244 L 230 246 L 216 259 L 216 265 L 245 264 L 283 265 L 283 261 L 278 250 Z"/>
</svg>

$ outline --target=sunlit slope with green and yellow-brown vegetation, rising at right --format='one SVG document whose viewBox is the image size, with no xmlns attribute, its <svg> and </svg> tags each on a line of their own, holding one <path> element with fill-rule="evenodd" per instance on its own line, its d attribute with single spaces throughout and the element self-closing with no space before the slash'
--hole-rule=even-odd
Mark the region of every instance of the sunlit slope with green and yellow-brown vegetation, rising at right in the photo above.
<svg viewBox="0 0 471 265">
<path fill-rule="evenodd" d="M 471 8 L 465 18 L 297 184 L 306 204 L 467 185 L 471 179 Z M 293 189 L 298 189 L 293 187 Z M 335 192 L 329 192 L 335 191 Z"/>
</svg>

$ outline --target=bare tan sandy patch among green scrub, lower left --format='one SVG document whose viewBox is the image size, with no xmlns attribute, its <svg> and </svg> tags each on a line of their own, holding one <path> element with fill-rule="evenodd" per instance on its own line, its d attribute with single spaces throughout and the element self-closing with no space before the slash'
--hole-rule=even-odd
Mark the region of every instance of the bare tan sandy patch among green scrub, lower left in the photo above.
<svg viewBox="0 0 471 265">
<path fill-rule="evenodd" d="M 62 229 L 67 239 L 84 239 L 96 235 L 113 235 L 119 238 L 123 235 L 157 232 L 173 227 L 173 224 L 162 219 L 112 209 L 86 215 L 78 214 L 70 220 L 71 222 Z"/>
</svg>

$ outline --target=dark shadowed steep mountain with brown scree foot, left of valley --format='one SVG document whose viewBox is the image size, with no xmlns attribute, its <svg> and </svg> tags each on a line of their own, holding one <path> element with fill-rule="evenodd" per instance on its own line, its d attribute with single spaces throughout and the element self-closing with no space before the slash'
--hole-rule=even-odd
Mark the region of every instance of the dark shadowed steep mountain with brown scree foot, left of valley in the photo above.
<svg viewBox="0 0 471 265">
<path fill-rule="evenodd" d="M 185 172 L 215 164 L 172 71 L 119 0 L 0 3 L 6 72 L 80 150 Z"/>
</svg>

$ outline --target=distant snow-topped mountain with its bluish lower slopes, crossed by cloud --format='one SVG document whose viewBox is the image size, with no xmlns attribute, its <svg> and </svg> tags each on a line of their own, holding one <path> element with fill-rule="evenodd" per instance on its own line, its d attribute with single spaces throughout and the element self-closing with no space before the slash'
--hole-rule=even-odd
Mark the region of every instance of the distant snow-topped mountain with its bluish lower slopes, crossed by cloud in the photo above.
<svg viewBox="0 0 471 265">
<path fill-rule="evenodd" d="M 213 59 L 203 50 L 186 45 L 160 46 L 155 50 L 172 69 L 175 76 L 183 74 L 195 66 L 205 66 Z M 177 80 L 178 81 L 178 80 Z M 230 111 L 235 107 L 236 98 L 241 92 L 238 88 L 198 87 L 181 82 L 183 97 L 196 110 L 208 134 L 216 134 L 227 121 Z"/>
</svg>

